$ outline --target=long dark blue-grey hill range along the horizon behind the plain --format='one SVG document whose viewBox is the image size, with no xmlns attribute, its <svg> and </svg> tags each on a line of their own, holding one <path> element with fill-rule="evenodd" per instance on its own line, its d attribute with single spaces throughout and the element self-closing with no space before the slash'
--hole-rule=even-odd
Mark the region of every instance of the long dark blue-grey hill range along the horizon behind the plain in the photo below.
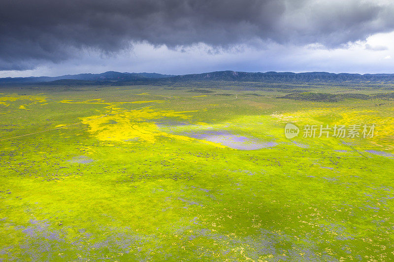
<svg viewBox="0 0 394 262">
<path fill-rule="evenodd" d="M 62 80 L 62 81 L 59 81 Z M 74 81 L 71 81 L 74 80 Z M 79 80 L 75 81 L 75 80 Z M 157 73 L 120 73 L 108 71 L 101 74 L 78 74 L 58 77 L 0 78 L 0 85 L 145 85 L 171 84 L 191 81 L 236 81 L 265 83 L 394 83 L 394 74 L 347 74 L 327 72 L 235 72 L 217 71 L 189 75 L 162 75 Z"/>
</svg>

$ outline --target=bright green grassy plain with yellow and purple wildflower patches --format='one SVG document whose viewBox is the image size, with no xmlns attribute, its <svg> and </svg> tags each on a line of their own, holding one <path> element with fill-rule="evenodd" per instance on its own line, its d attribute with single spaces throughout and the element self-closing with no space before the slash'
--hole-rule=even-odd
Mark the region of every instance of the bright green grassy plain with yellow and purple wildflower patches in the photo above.
<svg viewBox="0 0 394 262">
<path fill-rule="evenodd" d="M 0 261 L 393 260 L 390 88 L 1 88 Z"/>
</svg>

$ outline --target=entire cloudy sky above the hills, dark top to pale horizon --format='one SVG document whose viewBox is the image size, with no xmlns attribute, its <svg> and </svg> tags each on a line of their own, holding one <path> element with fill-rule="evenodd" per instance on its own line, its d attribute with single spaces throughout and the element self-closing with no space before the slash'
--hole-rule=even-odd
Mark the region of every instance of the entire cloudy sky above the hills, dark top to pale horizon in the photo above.
<svg viewBox="0 0 394 262">
<path fill-rule="evenodd" d="M 0 77 L 394 73 L 393 0 L 0 0 Z"/>
</svg>

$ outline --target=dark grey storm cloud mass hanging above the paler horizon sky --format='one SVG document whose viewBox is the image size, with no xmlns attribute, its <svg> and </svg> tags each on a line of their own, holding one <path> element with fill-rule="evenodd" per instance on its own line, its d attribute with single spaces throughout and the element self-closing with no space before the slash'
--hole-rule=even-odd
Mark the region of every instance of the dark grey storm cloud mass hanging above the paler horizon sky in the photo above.
<svg viewBox="0 0 394 262">
<path fill-rule="evenodd" d="M 319 0 L 0 0 L 0 70 L 110 54 L 132 41 L 169 47 L 256 39 L 335 47 L 394 29 L 393 5 Z"/>
</svg>

